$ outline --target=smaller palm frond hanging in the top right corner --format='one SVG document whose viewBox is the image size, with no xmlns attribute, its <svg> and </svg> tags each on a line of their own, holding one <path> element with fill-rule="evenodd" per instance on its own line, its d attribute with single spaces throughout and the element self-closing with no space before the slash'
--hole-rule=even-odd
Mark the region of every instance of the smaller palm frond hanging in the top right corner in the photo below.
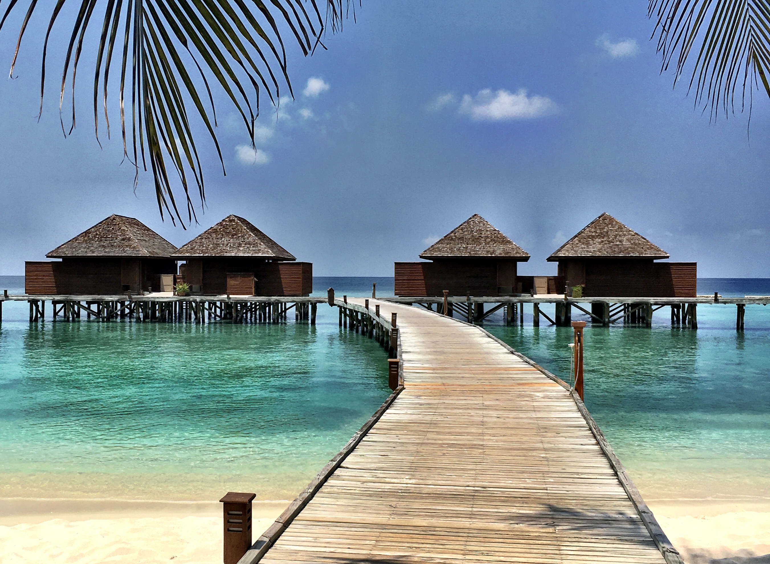
<svg viewBox="0 0 770 564">
<path fill-rule="evenodd" d="M 648 12 L 657 20 L 661 72 L 675 62 L 675 85 L 697 52 L 688 85 L 696 107 L 715 118 L 735 112 L 737 99 L 743 111 L 747 87 L 749 107 L 755 88 L 770 97 L 768 0 L 650 0 Z"/>
</svg>

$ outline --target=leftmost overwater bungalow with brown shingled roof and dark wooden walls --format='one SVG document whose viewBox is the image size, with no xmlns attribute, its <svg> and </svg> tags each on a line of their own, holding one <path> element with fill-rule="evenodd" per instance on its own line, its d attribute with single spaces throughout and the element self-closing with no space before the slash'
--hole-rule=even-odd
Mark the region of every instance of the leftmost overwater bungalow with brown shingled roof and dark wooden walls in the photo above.
<svg viewBox="0 0 770 564">
<path fill-rule="evenodd" d="M 170 256 L 175 250 L 141 221 L 112 215 L 45 255 L 61 260 L 27 261 L 25 291 L 116 295 L 160 290 L 162 274 L 176 273 Z"/>
</svg>

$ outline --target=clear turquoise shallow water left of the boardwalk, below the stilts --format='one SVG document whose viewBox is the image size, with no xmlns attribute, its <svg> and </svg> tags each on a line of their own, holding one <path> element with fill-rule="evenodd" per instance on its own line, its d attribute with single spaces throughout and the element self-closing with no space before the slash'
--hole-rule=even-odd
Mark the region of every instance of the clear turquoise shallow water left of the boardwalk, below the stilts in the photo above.
<svg viewBox="0 0 770 564">
<path fill-rule="evenodd" d="M 15 306 L 0 497 L 291 499 L 390 393 L 384 351 L 326 305 L 315 327 L 30 325 Z"/>
</svg>

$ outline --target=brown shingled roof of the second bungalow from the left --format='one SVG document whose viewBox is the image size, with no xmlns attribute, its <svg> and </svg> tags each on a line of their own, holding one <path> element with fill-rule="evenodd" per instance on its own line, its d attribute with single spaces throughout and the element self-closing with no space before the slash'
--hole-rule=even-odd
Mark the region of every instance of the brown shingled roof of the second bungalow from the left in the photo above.
<svg viewBox="0 0 770 564">
<path fill-rule="evenodd" d="M 296 260 L 294 255 L 254 227 L 243 217 L 227 216 L 173 254 L 186 257 L 264 257 Z"/>
</svg>

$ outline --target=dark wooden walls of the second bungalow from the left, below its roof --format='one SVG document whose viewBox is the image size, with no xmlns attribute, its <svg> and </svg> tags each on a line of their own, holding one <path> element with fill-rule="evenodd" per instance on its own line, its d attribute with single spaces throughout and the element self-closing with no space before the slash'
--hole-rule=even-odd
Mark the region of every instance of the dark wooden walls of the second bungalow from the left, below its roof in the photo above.
<svg viewBox="0 0 770 564">
<path fill-rule="evenodd" d="M 313 263 L 268 262 L 257 257 L 203 257 L 189 258 L 183 266 L 185 281 L 195 294 L 308 296 L 313 293 Z"/>
</svg>

